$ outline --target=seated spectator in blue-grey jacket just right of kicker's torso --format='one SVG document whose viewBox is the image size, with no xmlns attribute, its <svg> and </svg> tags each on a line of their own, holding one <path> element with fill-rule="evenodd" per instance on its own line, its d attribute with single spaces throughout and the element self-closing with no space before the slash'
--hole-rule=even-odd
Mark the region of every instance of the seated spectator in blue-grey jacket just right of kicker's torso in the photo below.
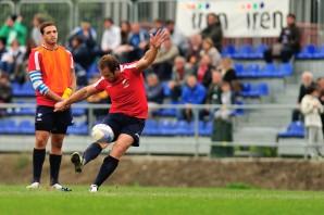
<svg viewBox="0 0 324 215">
<path fill-rule="evenodd" d="M 151 73 L 147 76 L 146 93 L 150 112 L 155 111 L 157 104 L 162 104 L 164 99 L 163 86 L 159 80 L 159 77 Z"/>
</svg>

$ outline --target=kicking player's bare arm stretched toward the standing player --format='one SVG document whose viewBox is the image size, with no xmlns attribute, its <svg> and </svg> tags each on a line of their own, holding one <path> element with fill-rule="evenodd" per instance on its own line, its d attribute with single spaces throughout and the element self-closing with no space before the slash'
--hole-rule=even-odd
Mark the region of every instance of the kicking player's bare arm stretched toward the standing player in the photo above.
<svg viewBox="0 0 324 215">
<path fill-rule="evenodd" d="M 64 111 L 71 104 L 82 101 L 82 100 L 85 100 L 88 97 L 96 94 L 98 92 L 100 92 L 100 90 L 98 90 L 94 85 L 84 87 L 84 88 L 77 90 L 75 93 L 73 93 L 68 99 L 55 103 L 54 112 Z"/>
</svg>

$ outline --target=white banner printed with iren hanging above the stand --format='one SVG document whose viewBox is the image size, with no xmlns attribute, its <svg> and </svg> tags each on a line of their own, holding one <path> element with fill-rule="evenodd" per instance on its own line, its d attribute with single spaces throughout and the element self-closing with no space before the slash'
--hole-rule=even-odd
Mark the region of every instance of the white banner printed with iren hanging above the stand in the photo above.
<svg viewBox="0 0 324 215">
<path fill-rule="evenodd" d="M 178 0 L 176 26 L 186 36 L 199 33 L 211 12 L 219 15 L 225 37 L 277 37 L 289 0 Z"/>
</svg>

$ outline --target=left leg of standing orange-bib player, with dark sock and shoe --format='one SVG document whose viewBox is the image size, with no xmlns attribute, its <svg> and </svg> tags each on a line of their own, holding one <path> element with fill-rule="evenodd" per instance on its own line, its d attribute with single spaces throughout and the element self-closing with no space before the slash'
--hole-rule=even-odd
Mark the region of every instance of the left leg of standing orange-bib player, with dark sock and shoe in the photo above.
<svg viewBox="0 0 324 215">
<path fill-rule="evenodd" d="M 42 170 L 42 164 L 46 156 L 46 144 L 50 137 L 49 131 L 36 130 L 35 131 L 35 148 L 33 151 L 33 181 L 27 189 L 37 189 L 39 188 L 40 176 Z"/>
</svg>

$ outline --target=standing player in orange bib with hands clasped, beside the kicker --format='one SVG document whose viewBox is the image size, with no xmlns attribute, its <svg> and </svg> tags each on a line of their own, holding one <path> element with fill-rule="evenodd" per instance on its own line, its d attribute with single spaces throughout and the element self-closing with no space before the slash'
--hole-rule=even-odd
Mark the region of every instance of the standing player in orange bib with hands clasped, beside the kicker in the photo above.
<svg viewBox="0 0 324 215">
<path fill-rule="evenodd" d="M 62 144 L 67 127 L 72 124 L 70 109 L 54 112 L 54 104 L 67 99 L 76 88 L 72 54 L 59 46 L 54 23 L 46 22 L 40 26 L 43 43 L 35 48 L 28 61 L 28 75 L 36 93 L 35 148 L 33 152 L 33 180 L 27 189 L 40 186 L 46 146 L 51 139 L 50 186 L 53 189 L 70 191 L 59 182 L 62 160 Z"/>
</svg>

